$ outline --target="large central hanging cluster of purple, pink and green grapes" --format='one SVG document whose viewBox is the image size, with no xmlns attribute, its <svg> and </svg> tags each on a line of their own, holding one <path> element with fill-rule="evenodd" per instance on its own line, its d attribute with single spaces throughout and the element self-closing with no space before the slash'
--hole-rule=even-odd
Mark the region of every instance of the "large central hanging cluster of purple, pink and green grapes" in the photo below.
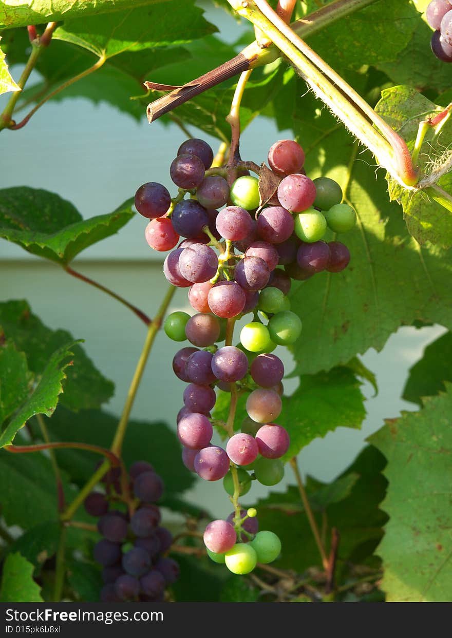
<svg viewBox="0 0 452 638">
<path fill-rule="evenodd" d="M 279 538 L 259 531 L 256 510 L 241 510 L 237 496 L 248 492 L 252 480 L 273 486 L 284 474 L 281 459 L 289 450 L 289 434 L 276 423 L 284 366 L 272 352 L 277 345 L 292 345 L 301 333 L 301 320 L 287 298 L 291 279 L 347 267 L 347 247 L 322 238 L 328 227 L 335 233 L 351 230 L 356 213 L 342 204 L 335 181 L 306 176 L 305 153 L 293 140 L 280 140 L 269 149 L 277 189 L 264 206 L 257 177 L 241 174 L 229 186 L 227 170 L 210 168 L 212 161 L 206 142 L 187 140 L 170 166 L 177 197 L 172 200 L 165 187 L 149 182 L 138 189 L 135 207 L 151 218 L 149 246 L 172 249 L 163 272 L 172 285 L 190 288 L 195 310 L 192 316 L 171 313 L 164 325 L 171 339 L 192 344 L 172 362 L 176 376 L 188 383 L 177 415 L 183 463 L 202 479 L 223 479 L 225 491 L 234 497 L 236 509 L 229 518 L 207 525 L 207 554 L 234 574 L 247 574 L 257 561 L 269 563 L 281 550 Z M 230 345 L 227 320 L 233 326 L 246 313 L 253 313 L 253 320 L 241 329 L 239 343 Z M 224 424 L 229 434 L 225 449 L 211 444 L 215 387 L 248 393 L 248 417 L 240 431 L 233 433 L 233 424 Z"/>
</svg>

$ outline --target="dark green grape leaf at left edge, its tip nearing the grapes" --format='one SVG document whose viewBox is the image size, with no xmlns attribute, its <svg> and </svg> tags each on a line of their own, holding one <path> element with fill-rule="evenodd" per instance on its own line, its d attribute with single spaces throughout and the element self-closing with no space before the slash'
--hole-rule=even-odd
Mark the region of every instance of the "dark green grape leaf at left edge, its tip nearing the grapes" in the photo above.
<svg viewBox="0 0 452 638">
<path fill-rule="evenodd" d="M 0 237 L 61 265 L 114 235 L 132 217 L 132 200 L 109 214 L 83 219 L 56 193 L 28 186 L 0 190 Z"/>
</svg>

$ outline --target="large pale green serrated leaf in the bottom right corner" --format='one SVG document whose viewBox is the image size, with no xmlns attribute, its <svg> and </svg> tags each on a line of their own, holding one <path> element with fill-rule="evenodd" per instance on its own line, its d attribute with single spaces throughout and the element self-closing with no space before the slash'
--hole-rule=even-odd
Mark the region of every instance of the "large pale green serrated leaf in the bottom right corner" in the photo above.
<svg viewBox="0 0 452 638">
<path fill-rule="evenodd" d="M 452 385 L 423 410 L 386 422 L 370 440 L 388 459 L 377 553 L 388 602 L 449 602 L 452 590 Z"/>
</svg>

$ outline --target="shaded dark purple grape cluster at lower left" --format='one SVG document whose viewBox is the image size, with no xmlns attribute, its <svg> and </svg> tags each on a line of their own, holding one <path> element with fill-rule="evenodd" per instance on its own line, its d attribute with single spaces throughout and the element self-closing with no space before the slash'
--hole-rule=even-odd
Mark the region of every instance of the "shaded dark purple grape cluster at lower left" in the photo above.
<svg viewBox="0 0 452 638">
<path fill-rule="evenodd" d="M 102 540 L 94 545 L 94 560 L 102 565 L 105 585 L 102 602 L 163 602 L 165 588 L 176 581 L 179 566 L 165 556 L 172 544 L 169 530 L 160 526 L 155 505 L 163 493 L 162 479 L 151 464 L 137 461 L 130 467 L 128 490 L 133 508 L 112 508 L 124 503 L 121 471 L 111 468 L 103 478 L 105 493 L 91 492 L 84 501 L 90 516 L 98 517 Z"/>
</svg>

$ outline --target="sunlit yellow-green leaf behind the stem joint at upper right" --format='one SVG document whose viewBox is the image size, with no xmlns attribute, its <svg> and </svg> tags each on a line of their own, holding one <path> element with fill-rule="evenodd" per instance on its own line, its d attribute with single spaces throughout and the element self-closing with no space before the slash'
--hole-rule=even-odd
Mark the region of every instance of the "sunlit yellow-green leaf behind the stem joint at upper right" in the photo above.
<svg viewBox="0 0 452 638">
<path fill-rule="evenodd" d="M 419 122 L 442 111 L 423 95 L 408 86 L 397 86 L 382 92 L 375 110 L 402 135 L 410 150 L 418 133 Z M 421 172 L 430 174 L 449 161 L 449 145 L 452 143 L 452 124 L 447 121 L 439 135 L 430 128 L 419 154 Z M 443 248 L 452 246 L 452 213 L 438 204 L 425 191 L 413 193 L 400 188 L 388 179 L 389 193 L 403 206 L 405 221 L 410 234 L 419 242 L 430 241 Z M 443 175 L 437 182 L 441 188 L 452 193 L 452 174 Z"/>
</svg>

